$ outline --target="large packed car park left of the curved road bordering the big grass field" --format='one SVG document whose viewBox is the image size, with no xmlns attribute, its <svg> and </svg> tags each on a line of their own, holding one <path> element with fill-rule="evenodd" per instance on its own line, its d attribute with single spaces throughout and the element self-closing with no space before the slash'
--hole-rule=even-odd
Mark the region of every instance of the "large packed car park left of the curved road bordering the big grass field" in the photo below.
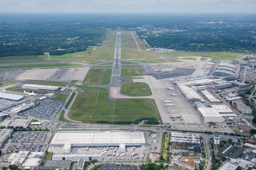
<svg viewBox="0 0 256 170">
<path fill-rule="evenodd" d="M 35 107 L 21 112 L 20 115 L 36 119 L 54 119 L 63 103 L 63 101 L 44 99 L 42 101 L 37 101 Z"/>
</svg>

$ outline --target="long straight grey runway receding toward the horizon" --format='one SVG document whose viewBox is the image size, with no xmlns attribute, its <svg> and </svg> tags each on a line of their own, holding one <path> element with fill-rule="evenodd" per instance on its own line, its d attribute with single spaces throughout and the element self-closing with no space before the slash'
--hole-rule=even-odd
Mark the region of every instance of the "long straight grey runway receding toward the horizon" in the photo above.
<svg viewBox="0 0 256 170">
<path fill-rule="evenodd" d="M 121 34 L 117 33 L 110 87 L 121 87 Z"/>
</svg>

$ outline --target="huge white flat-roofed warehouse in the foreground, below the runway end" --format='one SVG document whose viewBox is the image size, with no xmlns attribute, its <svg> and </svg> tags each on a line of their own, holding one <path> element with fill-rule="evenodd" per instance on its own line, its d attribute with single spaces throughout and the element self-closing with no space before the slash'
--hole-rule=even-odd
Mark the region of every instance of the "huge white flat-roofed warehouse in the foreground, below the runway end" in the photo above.
<svg viewBox="0 0 256 170">
<path fill-rule="evenodd" d="M 144 146 L 146 139 L 144 132 L 57 132 L 50 146 L 62 147 L 63 153 L 70 153 L 72 147 L 86 146 L 119 146 L 124 150 L 126 146 Z"/>
</svg>

